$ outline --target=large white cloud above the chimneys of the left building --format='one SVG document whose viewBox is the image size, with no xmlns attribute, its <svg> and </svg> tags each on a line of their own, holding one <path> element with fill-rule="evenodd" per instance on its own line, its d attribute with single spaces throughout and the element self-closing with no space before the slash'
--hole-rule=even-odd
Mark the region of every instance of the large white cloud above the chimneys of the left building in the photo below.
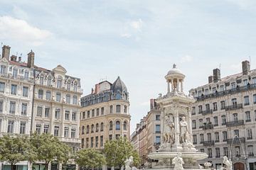
<svg viewBox="0 0 256 170">
<path fill-rule="evenodd" d="M 11 16 L 0 16 L 0 37 L 6 40 L 30 42 L 41 45 L 52 33 L 29 25 L 26 21 Z"/>
</svg>

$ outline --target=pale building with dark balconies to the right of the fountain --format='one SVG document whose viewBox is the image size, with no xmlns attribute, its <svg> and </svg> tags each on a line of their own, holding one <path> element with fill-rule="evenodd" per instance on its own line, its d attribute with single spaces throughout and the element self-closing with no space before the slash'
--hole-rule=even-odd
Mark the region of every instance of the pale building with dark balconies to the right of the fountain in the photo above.
<svg viewBox="0 0 256 170">
<path fill-rule="evenodd" d="M 227 156 L 235 170 L 256 169 L 256 69 L 250 70 L 250 62 L 242 62 L 241 73 L 224 78 L 213 69 L 208 84 L 190 94 L 196 98 L 193 144 L 208 154 L 207 161 L 219 169 Z"/>
</svg>

